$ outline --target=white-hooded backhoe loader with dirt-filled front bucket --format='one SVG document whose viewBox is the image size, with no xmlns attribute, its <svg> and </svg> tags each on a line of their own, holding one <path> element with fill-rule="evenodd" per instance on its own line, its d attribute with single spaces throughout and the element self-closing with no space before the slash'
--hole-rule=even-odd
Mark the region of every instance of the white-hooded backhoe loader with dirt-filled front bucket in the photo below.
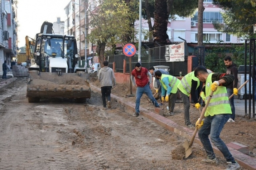
<svg viewBox="0 0 256 170">
<path fill-rule="evenodd" d="M 76 38 L 52 33 L 52 23 L 44 22 L 41 32 L 30 43 L 27 98 L 37 103 L 42 98 L 69 98 L 82 103 L 91 97 L 86 64 L 78 64 Z M 28 41 L 29 45 L 29 41 Z M 28 51 L 27 51 L 28 52 Z"/>
</svg>

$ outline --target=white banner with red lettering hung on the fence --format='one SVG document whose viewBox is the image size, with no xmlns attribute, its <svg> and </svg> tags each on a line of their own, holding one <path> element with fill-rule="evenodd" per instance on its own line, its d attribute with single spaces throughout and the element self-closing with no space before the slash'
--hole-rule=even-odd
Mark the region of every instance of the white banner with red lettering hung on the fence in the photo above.
<svg viewBox="0 0 256 170">
<path fill-rule="evenodd" d="M 165 46 L 166 62 L 184 62 L 185 43 Z"/>
</svg>

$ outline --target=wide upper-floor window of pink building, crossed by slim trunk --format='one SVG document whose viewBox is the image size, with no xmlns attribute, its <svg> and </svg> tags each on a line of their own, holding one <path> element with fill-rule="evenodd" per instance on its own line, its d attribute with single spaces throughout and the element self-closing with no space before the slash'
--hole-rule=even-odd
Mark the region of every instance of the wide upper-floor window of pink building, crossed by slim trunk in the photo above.
<svg viewBox="0 0 256 170">
<path fill-rule="evenodd" d="M 197 22 L 198 12 L 195 13 L 191 21 Z M 203 12 L 203 23 L 223 23 L 222 15 L 220 12 Z"/>
</svg>

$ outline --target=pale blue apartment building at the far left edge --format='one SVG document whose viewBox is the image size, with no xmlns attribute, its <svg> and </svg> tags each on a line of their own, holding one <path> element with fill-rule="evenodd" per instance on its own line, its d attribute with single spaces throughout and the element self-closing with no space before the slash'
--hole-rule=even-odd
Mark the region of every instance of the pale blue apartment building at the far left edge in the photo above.
<svg viewBox="0 0 256 170">
<path fill-rule="evenodd" d="M 17 49 L 17 1 L 1 0 L 0 2 L 0 70 L 4 60 L 10 65 Z"/>
</svg>

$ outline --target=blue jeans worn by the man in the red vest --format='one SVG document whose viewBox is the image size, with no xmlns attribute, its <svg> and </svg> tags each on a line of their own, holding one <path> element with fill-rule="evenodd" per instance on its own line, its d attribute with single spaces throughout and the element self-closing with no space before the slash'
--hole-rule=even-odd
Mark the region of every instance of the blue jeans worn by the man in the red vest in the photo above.
<svg viewBox="0 0 256 170">
<path fill-rule="evenodd" d="M 140 112 L 140 98 L 143 93 L 146 93 L 148 98 L 152 101 L 153 104 L 155 104 L 155 107 L 159 107 L 157 101 L 155 100 L 155 97 L 153 97 L 153 94 L 150 90 L 149 84 L 147 84 L 144 87 L 137 87 L 136 91 L 136 101 L 135 101 L 135 112 Z"/>
</svg>

